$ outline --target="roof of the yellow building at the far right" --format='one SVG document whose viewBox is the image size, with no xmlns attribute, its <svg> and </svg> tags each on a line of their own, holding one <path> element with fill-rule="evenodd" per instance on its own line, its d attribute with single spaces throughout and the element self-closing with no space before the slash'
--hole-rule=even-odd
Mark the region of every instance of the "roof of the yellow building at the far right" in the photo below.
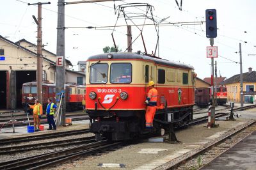
<svg viewBox="0 0 256 170">
<path fill-rule="evenodd" d="M 221 84 L 232 84 L 236 82 L 240 82 L 240 74 L 236 74 L 230 77 L 229 79 L 225 80 Z M 243 73 L 243 82 L 256 82 L 256 72 L 252 71 L 252 72 Z"/>
</svg>

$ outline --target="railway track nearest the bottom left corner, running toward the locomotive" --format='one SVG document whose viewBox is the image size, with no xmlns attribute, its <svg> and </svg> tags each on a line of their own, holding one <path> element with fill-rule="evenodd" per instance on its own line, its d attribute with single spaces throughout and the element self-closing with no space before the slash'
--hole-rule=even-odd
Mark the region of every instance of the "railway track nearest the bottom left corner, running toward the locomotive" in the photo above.
<svg viewBox="0 0 256 170">
<path fill-rule="evenodd" d="M 107 140 L 98 141 L 88 144 L 81 144 L 72 148 L 67 148 L 51 153 L 44 153 L 31 157 L 20 158 L 6 162 L 0 162 L 0 169 L 38 169 L 54 164 L 67 162 L 84 155 L 92 155 L 102 151 L 111 150 L 123 146 L 124 143 L 109 143 Z"/>
</svg>

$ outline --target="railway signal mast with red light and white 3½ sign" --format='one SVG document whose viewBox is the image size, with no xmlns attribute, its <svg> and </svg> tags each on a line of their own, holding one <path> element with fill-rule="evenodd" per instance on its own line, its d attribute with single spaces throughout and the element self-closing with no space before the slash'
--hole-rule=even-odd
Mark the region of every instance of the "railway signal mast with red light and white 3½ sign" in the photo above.
<svg viewBox="0 0 256 170">
<path fill-rule="evenodd" d="M 218 47 L 214 47 L 214 38 L 217 37 L 217 13 L 216 9 L 205 10 L 206 37 L 210 38 L 210 47 L 207 47 L 207 58 L 211 58 L 211 107 L 209 107 L 208 128 L 215 125 L 215 101 L 214 101 L 214 58 L 218 57 Z"/>
</svg>

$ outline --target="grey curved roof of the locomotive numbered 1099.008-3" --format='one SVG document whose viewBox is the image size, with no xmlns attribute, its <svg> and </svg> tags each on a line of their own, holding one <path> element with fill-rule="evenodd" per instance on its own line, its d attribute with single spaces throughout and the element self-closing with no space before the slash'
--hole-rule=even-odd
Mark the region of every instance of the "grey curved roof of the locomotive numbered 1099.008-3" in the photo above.
<svg viewBox="0 0 256 170">
<path fill-rule="evenodd" d="M 175 61 L 168 61 L 166 59 L 157 58 L 157 57 L 154 57 L 154 56 L 146 56 L 146 55 L 138 54 L 138 53 L 135 53 L 135 52 L 104 53 L 104 54 L 91 56 L 87 59 L 87 61 L 95 60 L 95 59 L 99 59 L 99 61 L 101 59 L 108 59 L 108 54 L 112 54 L 113 59 L 145 59 L 145 60 L 153 61 L 154 63 L 159 64 L 159 65 L 173 66 L 173 67 L 186 68 L 186 69 L 194 69 L 194 67 L 191 66 L 191 65 L 186 65 L 184 63 L 179 63 L 179 62 L 175 62 Z M 108 60 L 111 60 L 111 59 L 108 59 Z"/>
</svg>

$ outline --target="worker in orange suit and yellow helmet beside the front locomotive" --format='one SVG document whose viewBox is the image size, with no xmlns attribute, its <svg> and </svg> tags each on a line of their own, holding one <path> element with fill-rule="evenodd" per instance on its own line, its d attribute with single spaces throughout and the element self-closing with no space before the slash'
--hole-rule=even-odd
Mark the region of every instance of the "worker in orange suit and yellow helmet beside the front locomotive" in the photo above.
<svg viewBox="0 0 256 170">
<path fill-rule="evenodd" d="M 145 104 L 147 104 L 147 110 L 145 114 L 146 128 L 153 127 L 153 120 L 154 120 L 154 116 L 156 114 L 156 109 L 157 109 L 158 92 L 157 92 L 157 89 L 154 88 L 154 85 L 155 85 L 154 81 L 150 81 L 147 84 L 149 91 L 147 94 L 147 100 L 145 101 Z"/>
</svg>

